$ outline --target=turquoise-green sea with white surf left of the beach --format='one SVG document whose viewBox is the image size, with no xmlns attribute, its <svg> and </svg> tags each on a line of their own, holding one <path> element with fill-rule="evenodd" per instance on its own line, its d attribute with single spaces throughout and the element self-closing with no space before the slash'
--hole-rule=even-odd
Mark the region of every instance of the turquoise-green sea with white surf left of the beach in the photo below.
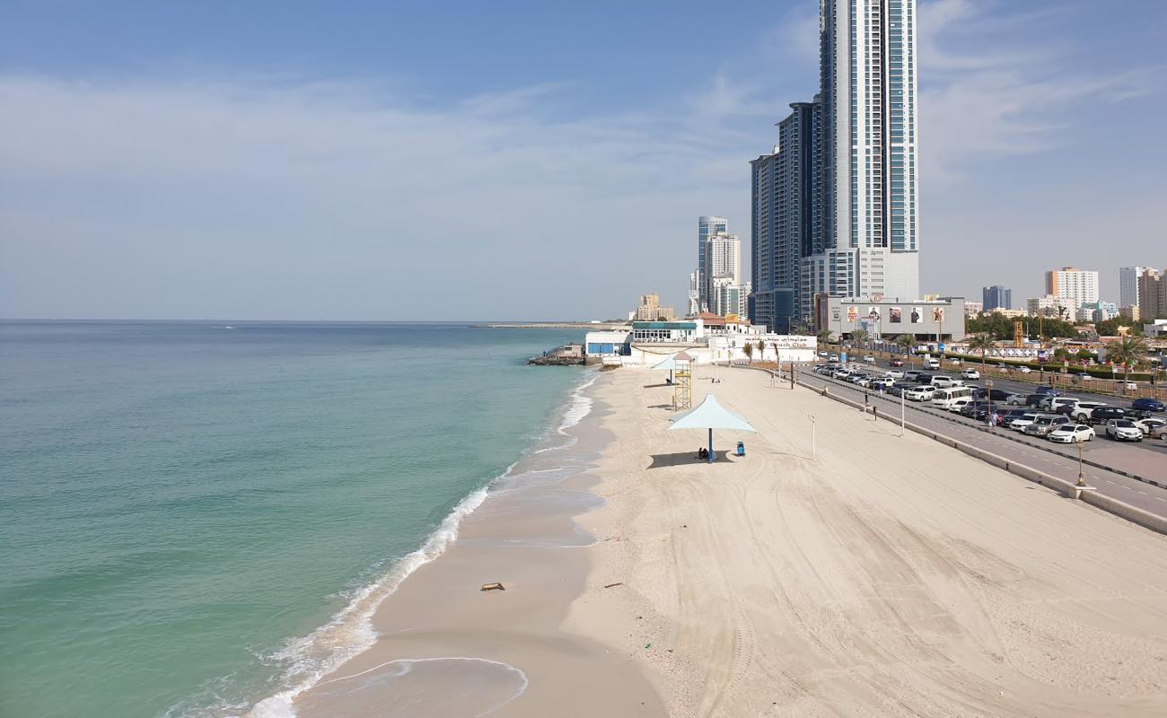
<svg viewBox="0 0 1167 718">
<path fill-rule="evenodd" d="M 0 323 L 0 716 L 232 714 L 343 657 L 585 378 L 522 363 L 579 332 L 232 326 Z"/>
</svg>

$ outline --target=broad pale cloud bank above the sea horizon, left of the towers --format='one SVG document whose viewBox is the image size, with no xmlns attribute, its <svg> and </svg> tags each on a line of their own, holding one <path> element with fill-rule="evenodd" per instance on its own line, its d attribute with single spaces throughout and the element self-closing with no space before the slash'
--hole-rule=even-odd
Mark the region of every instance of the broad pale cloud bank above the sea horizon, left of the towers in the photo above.
<svg viewBox="0 0 1167 718">
<path fill-rule="evenodd" d="M 359 83 L 0 78 L 5 313 L 551 318 L 679 298 L 697 216 L 748 205 L 726 126 L 747 92 L 557 120 L 559 91 L 419 109 Z"/>
</svg>

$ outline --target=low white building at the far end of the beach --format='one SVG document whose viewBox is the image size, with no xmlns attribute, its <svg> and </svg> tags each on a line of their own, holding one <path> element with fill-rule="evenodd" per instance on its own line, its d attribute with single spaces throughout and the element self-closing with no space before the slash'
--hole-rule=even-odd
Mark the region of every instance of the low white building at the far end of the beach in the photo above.
<svg viewBox="0 0 1167 718">
<path fill-rule="evenodd" d="M 762 350 L 757 350 L 757 343 Z M 759 361 L 811 362 L 813 336 L 769 334 L 735 315 L 704 313 L 682 321 L 634 321 L 628 329 L 588 332 L 584 347 L 589 363 L 651 367 L 678 351 L 698 364 L 745 361 L 746 344 Z"/>
</svg>

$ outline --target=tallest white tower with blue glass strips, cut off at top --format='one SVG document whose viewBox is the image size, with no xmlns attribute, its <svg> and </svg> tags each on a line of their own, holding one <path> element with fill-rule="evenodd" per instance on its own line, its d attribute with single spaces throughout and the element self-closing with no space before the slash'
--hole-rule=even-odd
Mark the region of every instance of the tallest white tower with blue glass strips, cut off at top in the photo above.
<svg viewBox="0 0 1167 718">
<path fill-rule="evenodd" d="M 852 295 L 916 299 L 916 2 L 819 9 L 824 249 L 853 253 Z"/>
</svg>

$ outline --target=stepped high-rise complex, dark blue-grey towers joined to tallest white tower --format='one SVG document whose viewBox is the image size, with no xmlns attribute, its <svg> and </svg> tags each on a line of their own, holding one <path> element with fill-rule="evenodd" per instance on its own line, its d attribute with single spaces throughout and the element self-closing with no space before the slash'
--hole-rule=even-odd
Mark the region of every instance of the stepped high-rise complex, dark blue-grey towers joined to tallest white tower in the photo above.
<svg viewBox="0 0 1167 718">
<path fill-rule="evenodd" d="M 752 320 L 920 297 L 915 0 L 820 0 L 819 93 L 752 162 Z M 781 327 L 781 322 L 778 323 Z"/>
</svg>

